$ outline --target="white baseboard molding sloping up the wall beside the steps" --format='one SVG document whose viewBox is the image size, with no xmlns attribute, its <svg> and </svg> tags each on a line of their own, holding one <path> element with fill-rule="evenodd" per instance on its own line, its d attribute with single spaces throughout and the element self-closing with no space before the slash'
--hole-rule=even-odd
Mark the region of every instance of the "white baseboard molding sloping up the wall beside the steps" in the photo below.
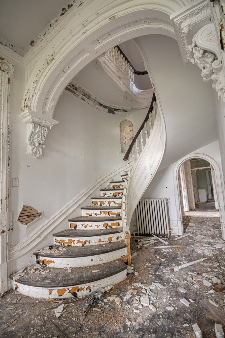
<svg viewBox="0 0 225 338">
<path fill-rule="evenodd" d="M 80 204 L 85 199 L 90 197 L 96 189 L 98 189 L 102 184 L 108 182 L 113 176 L 119 174 L 124 170 L 127 170 L 127 163 L 115 167 L 114 169 L 108 171 L 106 174 L 94 180 L 71 201 L 65 204 L 59 211 L 53 214 L 44 224 L 39 225 L 35 229 L 35 231 L 33 231 L 29 236 L 25 237 L 19 243 L 12 245 L 10 247 L 9 260 L 12 261 L 26 254 L 26 252 L 31 250 L 45 236 L 52 232 L 59 223 L 64 221 L 69 214 L 71 214 L 78 207 L 80 207 Z"/>
</svg>

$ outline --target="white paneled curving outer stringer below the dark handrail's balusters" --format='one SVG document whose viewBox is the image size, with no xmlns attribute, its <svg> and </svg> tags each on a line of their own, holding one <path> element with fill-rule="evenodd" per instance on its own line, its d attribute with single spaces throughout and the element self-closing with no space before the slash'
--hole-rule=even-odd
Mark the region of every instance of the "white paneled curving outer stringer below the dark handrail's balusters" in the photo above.
<svg viewBox="0 0 225 338">
<path fill-rule="evenodd" d="M 156 121 L 154 123 L 151 135 L 145 144 L 137 162 L 132 167 L 127 191 L 125 191 L 124 194 L 125 198 L 123 200 L 122 212 L 126 218 L 128 227 L 130 227 L 131 218 L 139 200 L 141 199 L 159 168 L 163 158 L 165 145 L 166 127 L 159 104 Z"/>
</svg>

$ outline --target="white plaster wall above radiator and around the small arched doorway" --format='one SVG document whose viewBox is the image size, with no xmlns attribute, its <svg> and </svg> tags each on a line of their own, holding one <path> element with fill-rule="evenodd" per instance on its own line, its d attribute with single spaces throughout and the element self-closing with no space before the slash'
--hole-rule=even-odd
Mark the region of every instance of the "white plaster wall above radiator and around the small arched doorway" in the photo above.
<svg viewBox="0 0 225 338">
<path fill-rule="evenodd" d="M 219 166 L 222 167 L 218 141 L 210 143 L 200 149 L 194 150 L 194 152 L 212 156 L 218 162 Z M 177 224 L 173 184 L 173 169 L 175 164 L 176 162 L 158 171 L 142 196 L 142 198 L 168 198 L 169 220 L 172 226 Z"/>
</svg>

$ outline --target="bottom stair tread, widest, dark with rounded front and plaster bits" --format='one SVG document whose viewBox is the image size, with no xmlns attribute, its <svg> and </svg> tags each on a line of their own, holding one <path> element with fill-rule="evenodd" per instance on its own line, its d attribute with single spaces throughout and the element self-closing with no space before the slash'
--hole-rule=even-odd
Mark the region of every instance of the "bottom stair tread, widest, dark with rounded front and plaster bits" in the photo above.
<svg viewBox="0 0 225 338">
<path fill-rule="evenodd" d="M 41 273 L 43 270 L 41 270 L 40 272 L 35 273 L 25 273 L 24 276 L 20 277 L 15 282 L 43 288 L 60 288 L 82 285 L 98 281 L 124 271 L 126 269 L 126 264 L 118 259 L 116 261 L 93 265 L 91 267 L 72 268 L 71 272 L 66 272 L 62 268 L 46 267 L 45 269 L 49 270 L 49 272 L 43 274 Z M 29 271 L 29 268 L 26 270 Z M 97 272 L 92 272 L 94 270 L 97 270 Z M 10 278 L 12 279 L 16 276 L 16 274 L 17 273 L 11 275 Z"/>
</svg>

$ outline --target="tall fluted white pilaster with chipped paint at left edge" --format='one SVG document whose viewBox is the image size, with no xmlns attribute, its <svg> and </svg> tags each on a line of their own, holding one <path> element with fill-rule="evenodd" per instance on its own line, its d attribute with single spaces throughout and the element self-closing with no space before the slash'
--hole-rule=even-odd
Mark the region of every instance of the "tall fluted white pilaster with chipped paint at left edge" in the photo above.
<svg viewBox="0 0 225 338">
<path fill-rule="evenodd" d="M 9 247 L 12 230 L 12 212 L 10 206 L 10 146 L 11 112 L 9 106 L 11 80 L 14 66 L 0 57 L 0 293 L 9 289 Z"/>
</svg>

